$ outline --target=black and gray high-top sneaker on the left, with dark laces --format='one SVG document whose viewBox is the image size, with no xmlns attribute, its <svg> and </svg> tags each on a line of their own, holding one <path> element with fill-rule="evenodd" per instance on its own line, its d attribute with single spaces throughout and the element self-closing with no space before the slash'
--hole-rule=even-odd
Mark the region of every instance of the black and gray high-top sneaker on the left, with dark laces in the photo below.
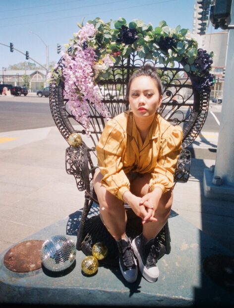
<svg viewBox="0 0 234 308">
<path fill-rule="evenodd" d="M 135 282 L 138 268 L 129 238 L 117 240 L 119 251 L 119 268 L 127 282 Z"/>
</svg>

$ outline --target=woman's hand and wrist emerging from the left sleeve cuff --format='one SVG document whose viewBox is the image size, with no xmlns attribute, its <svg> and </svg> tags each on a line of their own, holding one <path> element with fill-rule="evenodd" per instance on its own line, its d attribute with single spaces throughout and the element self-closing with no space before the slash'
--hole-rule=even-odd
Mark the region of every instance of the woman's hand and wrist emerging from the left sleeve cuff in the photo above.
<svg viewBox="0 0 234 308">
<path fill-rule="evenodd" d="M 140 204 L 142 198 L 133 195 L 130 191 L 123 194 L 123 199 L 129 204 L 133 212 L 142 219 L 142 223 L 145 221 L 157 222 L 157 219 L 152 215 L 153 206 L 149 202 Z"/>
</svg>

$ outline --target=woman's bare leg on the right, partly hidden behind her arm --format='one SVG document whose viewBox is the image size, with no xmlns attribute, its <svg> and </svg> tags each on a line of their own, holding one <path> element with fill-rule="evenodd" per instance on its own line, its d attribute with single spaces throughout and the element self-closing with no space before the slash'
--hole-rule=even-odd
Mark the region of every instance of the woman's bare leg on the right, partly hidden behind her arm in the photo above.
<svg viewBox="0 0 234 308">
<path fill-rule="evenodd" d="M 149 181 L 151 175 L 145 173 L 142 177 L 137 177 L 131 182 L 130 190 L 131 192 L 139 197 L 143 197 L 150 192 Z M 155 212 L 155 217 L 157 222 L 148 222 L 143 225 L 143 236 L 146 239 L 154 238 L 162 230 L 166 224 L 172 207 L 173 202 L 173 192 L 169 191 L 162 195 L 157 211 Z"/>
</svg>

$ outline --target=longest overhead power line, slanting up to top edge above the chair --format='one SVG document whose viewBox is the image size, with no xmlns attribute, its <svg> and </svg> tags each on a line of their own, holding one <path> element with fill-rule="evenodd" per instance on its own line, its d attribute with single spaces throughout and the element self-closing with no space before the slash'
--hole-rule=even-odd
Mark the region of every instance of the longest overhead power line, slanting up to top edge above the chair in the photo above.
<svg viewBox="0 0 234 308">
<path fill-rule="evenodd" d="M 159 1 L 159 2 L 148 3 L 148 4 L 141 4 L 141 5 L 134 5 L 134 6 L 128 6 L 128 7 L 109 9 L 109 10 L 99 11 L 99 12 L 94 12 L 94 13 L 87 13 L 87 14 L 83 13 L 81 15 L 73 15 L 73 16 L 69 16 L 69 17 L 59 17 L 59 18 L 54 18 L 54 19 L 45 19 L 45 20 L 39 20 L 39 21 L 17 23 L 17 24 L 1 26 L 1 28 L 14 27 L 14 26 L 20 26 L 20 25 L 32 24 L 32 23 L 47 22 L 47 21 L 62 20 L 62 19 L 68 19 L 68 18 L 73 18 L 73 17 L 82 17 L 84 15 L 88 16 L 88 15 L 99 14 L 99 13 L 108 13 L 108 12 L 113 12 L 113 11 L 125 10 L 125 9 L 128 9 L 128 8 L 136 8 L 136 7 L 142 7 L 142 6 L 148 6 L 148 5 L 155 5 L 155 4 L 159 4 L 159 3 L 166 3 L 166 2 L 172 2 L 172 1 L 178 1 L 178 0 L 164 0 L 164 1 Z"/>
</svg>

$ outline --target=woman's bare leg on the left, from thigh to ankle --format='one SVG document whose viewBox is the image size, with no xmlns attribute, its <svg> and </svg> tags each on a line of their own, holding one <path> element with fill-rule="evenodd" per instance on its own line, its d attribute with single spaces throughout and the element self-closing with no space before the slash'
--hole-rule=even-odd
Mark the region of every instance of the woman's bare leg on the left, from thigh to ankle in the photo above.
<svg viewBox="0 0 234 308">
<path fill-rule="evenodd" d="M 116 239 L 126 239 L 127 216 L 123 202 L 109 193 L 101 184 L 103 175 L 96 171 L 94 175 L 94 189 L 100 205 L 100 217 L 110 234 Z"/>
</svg>

